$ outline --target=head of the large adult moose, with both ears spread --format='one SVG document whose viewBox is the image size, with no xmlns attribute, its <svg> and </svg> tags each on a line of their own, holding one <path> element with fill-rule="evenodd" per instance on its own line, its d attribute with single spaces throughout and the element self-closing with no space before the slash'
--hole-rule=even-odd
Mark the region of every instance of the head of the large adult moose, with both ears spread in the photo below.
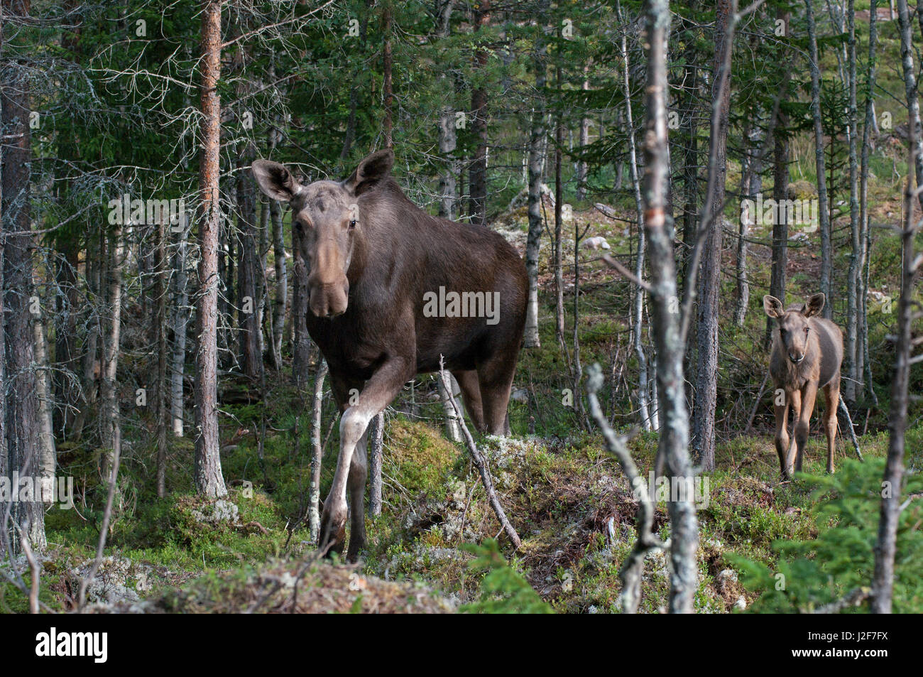
<svg viewBox="0 0 923 677">
<path fill-rule="evenodd" d="M 252 171 L 271 199 L 288 202 L 292 227 L 308 269 L 308 308 L 318 318 L 342 315 L 349 305 L 347 273 L 364 221 L 356 199 L 390 174 L 394 154 L 372 153 L 345 181 L 315 181 L 303 186 L 283 164 L 257 160 Z"/>
</svg>

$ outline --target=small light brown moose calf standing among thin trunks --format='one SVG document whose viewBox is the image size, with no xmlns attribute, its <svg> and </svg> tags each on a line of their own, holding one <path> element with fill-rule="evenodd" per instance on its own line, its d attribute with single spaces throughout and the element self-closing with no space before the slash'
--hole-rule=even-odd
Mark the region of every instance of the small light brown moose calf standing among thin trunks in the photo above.
<svg viewBox="0 0 923 677">
<path fill-rule="evenodd" d="M 843 362 L 843 330 L 830 320 L 818 317 L 824 296 L 810 296 L 800 308 L 785 310 L 775 296 L 763 296 L 766 315 L 776 320 L 769 373 L 776 393 L 783 393 L 783 404 L 775 400 L 775 451 L 779 454 L 782 478 L 801 470 L 801 459 L 808 443 L 810 417 L 819 388 L 823 389 L 826 410 L 823 428 L 827 433 L 827 472 L 833 472 L 836 441 L 836 409 L 840 401 L 840 365 Z M 795 419 L 795 440 L 788 442 L 788 408 Z"/>
</svg>

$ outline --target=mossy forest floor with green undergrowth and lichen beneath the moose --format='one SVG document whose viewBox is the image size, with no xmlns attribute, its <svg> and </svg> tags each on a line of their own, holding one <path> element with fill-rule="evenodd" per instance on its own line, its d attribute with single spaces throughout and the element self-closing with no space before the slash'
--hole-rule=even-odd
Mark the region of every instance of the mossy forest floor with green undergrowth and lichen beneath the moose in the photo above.
<svg viewBox="0 0 923 677">
<path fill-rule="evenodd" d="M 498 227 L 507 228 L 516 241 L 521 218 L 519 213 L 509 214 Z M 598 210 L 575 212 L 574 219 L 571 228 L 576 225 L 582 231 L 589 226 L 587 236 L 607 237 L 617 255 L 631 247 L 629 229 L 613 226 Z M 572 240 L 570 247 L 572 251 Z M 883 240 L 877 250 L 881 257 L 894 254 Z M 584 364 L 599 360 L 612 365 L 612 388 L 605 393 L 604 406 L 616 427 L 628 430 L 636 420 L 631 405 L 636 393 L 629 387 L 636 364 L 626 347 L 629 287 L 595 260 L 597 254 L 581 250 L 581 355 Z M 733 271 L 730 256 L 728 248 L 725 271 Z M 754 247 L 751 256 L 751 280 L 759 287 L 763 277 L 768 282 L 768 259 L 761 247 Z M 543 260 L 547 257 L 544 248 Z M 815 260 L 809 249 L 793 249 L 792 289 L 809 292 L 816 279 Z M 873 280 L 886 288 L 891 284 L 886 272 L 893 268 L 881 265 L 881 274 Z M 542 281 L 549 291 L 546 297 L 553 298 L 548 272 L 543 272 Z M 733 297 L 733 279 L 725 284 L 728 297 Z M 573 284 L 566 296 L 572 304 Z M 809 541 L 827 520 L 818 508 L 829 494 L 819 494 L 803 478 L 779 481 L 768 393 L 757 407 L 754 429 L 735 432 L 747 419 L 765 373 L 765 352 L 753 338 L 761 336 L 764 327 L 760 301 L 761 294 L 754 294 L 747 327 L 725 330 L 722 336 L 716 470 L 707 477 L 707 492 L 698 497 L 697 611 L 749 609 L 759 593 L 742 585 L 736 558 L 773 569 L 780 543 Z M 723 312 L 729 313 L 732 304 L 726 305 Z M 501 502 L 521 536 L 519 550 L 513 551 L 503 535 L 468 453 L 442 434 L 435 384 L 424 378 L 389 409 L 384 508 L 381 515 L 368 519 L 362 562 L 317 562 L 305 520 L 307 395 L 297 393 L 283 377 L 270 385 L 262 402 L 223 407 L 222 465 L 230 494 L 222 501 L 203 502 L 191 492 L 157 499 L 150 468 L 140 460 L 150 458 L 150 450 L 137 448 L 126 435 L 126 464 L 106 559 L 90 586 L 93 611 L 485 611 L 485 600 L 497 599 L 509 604 L 501 604 L 501 611 L 534 610 L 542 602 L 562 612 L 618 611 L 618 570 L 634 543 L 637 503 L 599 435 L 581 429 L 579 415 L 561 404 L 570 367 L 554 336 L 552 312 L 553 308 L 543 308 L 543 347 L 523 351 L 521 357 L 514 385 L 519 396 L 510 403 L 514 435 L 480 441 Z M 874 327 L 876 369 L 885 369 L 883 333 L 888 318 L 882 317 L 881 326 Z M 616 365 L 624 375 L 617 373 Z M 879 376 L 876 392 L 883 399 L 888 374 Z M 246 398 L 235 398 L 234 388 L 246 387 L 229 380 L 222 391 L 226 400 L 239 403 Z M 333 415 L 330 403 L 327 406 L 325 431 Z M 885 415 L 882 402 L 878 408 L 869 407 L 864 425 L 857 422 L 859 429 L 871 430 L 860 444 L 872 462 L 886 453 L 887 434 L 881 431 Z M 906 465 L 918 469 L 923 465 L 923 424 L 919 412 L 915 416 Z M 527 434 L 530 426 L 536 434 Z M 825 442 L 816 426 L 815 417 L 804 469 L 820 475 Z M 324 495 L 336 460 L 337 432 L 335 426 L 331 429 L 322 473 Z M 844 459 L 853 455 L 852 446 L 842 437 L 837 444 L 838 468 L 848 470 L 854 464 Z M 636 434 L 630 447 L 641 476 L 648 477 L 656 435 Z M 191 455 L 190 441 L 174 441 L 169 486 L 191 487 Z M 47 514 L 50 548 L 42 561 L 41 598 L 54 610 L 73 607 L 95 549 L 102 502 L 102 486 L 93 472 L 98 461 L 99 450 L 61 450 L 61 465 L 78 478 L 78 505 L 69 511 L 53 508 Z M 869 496 L 869 502 L 875 501 Z M 657 504 L 654 527 L 661 537 L 668 537 L 665 502 Z M 485 551 L 473 551 L 470 544 L 489 538 L 498 539 L 509 567 L 496 557 L 493 565 L 483 566 Z M 870 566 L 870 560 L 867 563 Z M 21 571 L 25 562 L 17 565 Z M 485 583 L 485 574 L 497 570 L 521 577 L 505 575 L 498 585 Z M 664 553 L 648 558 L 641 611 L 664 611 L 669 572 Z M 540 601 L 522 600 L 522 578 Z M 26 600 L 13 586 L 0 586 L 0 608 L 24 611 Z"/>
</svg>

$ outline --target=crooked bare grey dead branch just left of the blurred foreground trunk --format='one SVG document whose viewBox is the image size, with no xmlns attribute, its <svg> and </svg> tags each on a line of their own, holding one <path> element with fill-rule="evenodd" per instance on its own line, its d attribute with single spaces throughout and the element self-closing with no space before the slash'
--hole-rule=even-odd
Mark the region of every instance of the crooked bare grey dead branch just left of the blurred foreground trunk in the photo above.
<svg viewBox="0 0 923 677">
<path fill-rule="evenodd" d="M 653 534 L 653 501 L 648 493 L 647 484 L 641 478 L 638 466 L 631 458 L 628 445 L 625 443 L 628 438 L 617 435 L 609 426 L 603 414 L 603 408 L 599 405 L 599 398 L 596 397 L 596 393 L 603 387 L 603 369 L 595 363 L 586 370 L 586 373 L 586 393 L 587 400 L 590 402 L 590 416 L 603 433 L 606 451 L 617 458 L 638 500 L 638 524 L 636 526 L 638 540 L 635 541 L 634 549 L 631 550 L 618 572 L 622 580 L 622 611 L 637 613 L 641 603 L 641 575 L 644 573 L 644 558 L 653 550 L 664 550 L 667 544 Z"/>
</svg>

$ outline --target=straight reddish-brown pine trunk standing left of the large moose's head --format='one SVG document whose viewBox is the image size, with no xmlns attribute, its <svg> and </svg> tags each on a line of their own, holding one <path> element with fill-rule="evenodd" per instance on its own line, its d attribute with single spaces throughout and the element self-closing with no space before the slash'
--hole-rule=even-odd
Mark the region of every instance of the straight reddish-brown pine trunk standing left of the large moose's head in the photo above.
<svg viewBox="0 0 923 677">
<path fill-rule="evenodd" d="M 201 25 L 201 150 L 198 240 L 198 312 L 196 317 L 196 490 L 207 498 L 227 495 L 222 477 L 218 432 L 218 232 L 221 228 L 222 5 L 205 0 Z"/>
</svg>

